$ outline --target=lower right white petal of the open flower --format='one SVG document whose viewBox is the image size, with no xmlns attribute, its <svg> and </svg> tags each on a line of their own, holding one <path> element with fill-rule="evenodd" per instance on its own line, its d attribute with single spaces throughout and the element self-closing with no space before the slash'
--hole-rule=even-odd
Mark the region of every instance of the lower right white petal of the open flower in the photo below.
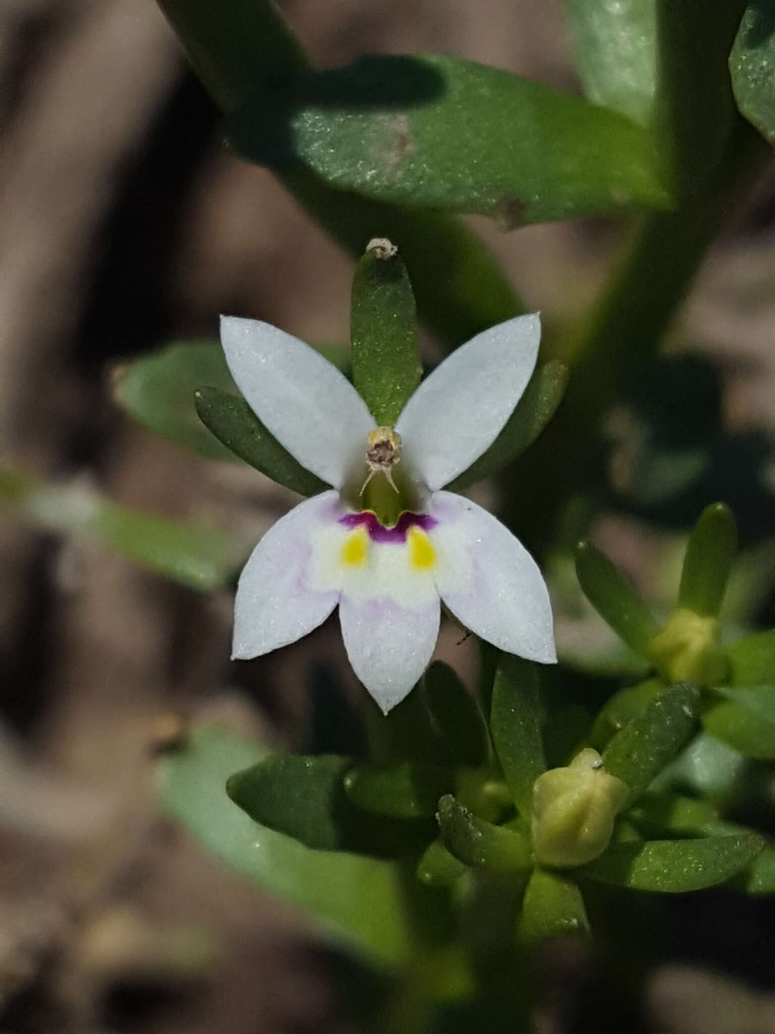
<svg viewBox="0 0 775 1034">
<path fill-rule="evenodd" d="M 436 587 L 458 620 L 499 649 L 530 661 L 557 660 L 544 576 L 499 520 L 453 492 L 435 492 L 430 538 L 438 553 Z"/>
</svg>

